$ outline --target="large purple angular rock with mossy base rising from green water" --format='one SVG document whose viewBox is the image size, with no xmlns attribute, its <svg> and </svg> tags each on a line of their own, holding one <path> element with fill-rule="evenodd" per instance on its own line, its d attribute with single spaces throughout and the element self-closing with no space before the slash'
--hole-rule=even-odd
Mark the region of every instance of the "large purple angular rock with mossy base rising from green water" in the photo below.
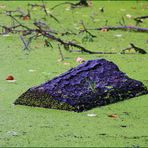
<svg viewBox="0 0 148 148">
<path fill-rule="evenodd" d="M 81 112 L 147 93 L 142 82 L 129 78 L 113 62 L 97 59 L 28 89 L 15 104 Z"/>
</svg>

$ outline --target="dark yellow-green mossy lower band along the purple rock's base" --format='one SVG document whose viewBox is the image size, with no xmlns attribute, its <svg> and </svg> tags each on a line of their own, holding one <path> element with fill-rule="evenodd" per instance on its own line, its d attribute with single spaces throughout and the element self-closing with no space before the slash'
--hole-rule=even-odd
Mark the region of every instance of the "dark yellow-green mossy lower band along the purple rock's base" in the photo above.
<svg viewBox="0 0 148 148">
<path fill-rule="evenodd" d="M 135 96 L 140 96 L 142 94 L 147 94 L 147 93 L 148 93 L 147 88 L 143 88 L 141 92 L 137 92 L 137 90 L 135 90 L 133 92 L 130 92 L 130 94 L 129 92 L 111 90 L 103 94 L 102 96 L 96 96 L 95 100 L 89 100 L 89 101 L 86 100 L 85 103 L 82 103 L 81 100 L 79 100 L 79 102 L 77 102 L 76 105 L 71 106 L 68 103 L 53 99 L 53 97 L 50 96 L 45 91 L 40 92 L 37 90 L 34 90 L 34 91 L 28 90 L 25 93 L 23 93 L 14 102 L 14 104 L 82 112 L 97 106 L 104 106 L 104 105 L 116 103 L 119 101 L 123 101 L 126 99 L 133 98 Z"/>
</svg>

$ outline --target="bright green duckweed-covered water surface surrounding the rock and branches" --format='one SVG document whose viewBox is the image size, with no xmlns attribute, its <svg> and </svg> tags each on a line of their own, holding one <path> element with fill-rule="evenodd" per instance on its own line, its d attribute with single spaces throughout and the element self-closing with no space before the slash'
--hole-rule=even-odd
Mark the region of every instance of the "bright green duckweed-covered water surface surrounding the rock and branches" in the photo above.
<svg viewBox="0 0 148 148">
<path fill-rule="evenodd" d="M 59 2 L 48 2 L 48 7 L 57 3 Z M 2 4 L 8 10 L 25 7 L 27 2 L 0 2 L 0 5 Z M 104 14 L 99 12 L 100 7 L 104 7 Z M 67 6 L 61 6 L 54 10 L 53 14 L 61 24 L 56 24 L 49 18 L 51 28 L 58 31 L 63 31 L 64 28 L 74 29 L 74 25 L 79 26 L 81 19 L 92 28 L 103 26 L 106 20 L 109 20 L 108 25 L 118 25 L 121 16 L 130 14 L 136 17 L 148 13 L 146 1 L 94 2 L 93 7 L 78 8 L 73 10 L 73 13 L 65 10 L 66 8 Z M 3 10 L 0 8 L 1 12 Z M 39 12 L 34 10 L 34 17 L 38 16 Z M 91 22 L 89 17 L 94 13 L 96 13 L 95 23 Z M 124 18 L 127 25 L 135 24 L 132 18 Z M 0 14 L 0 24 L 8 23 L 10 20 Z M 148 21 L 145 20 L 141 27 L 148 27 Z M 148 52 L 146 33 L 123 31 L 92 33 L 97 35 L 94 42 L 83 44 L 90 50 L 119 52 L 133 42 Z M 115 37 L 117 34 L 122 34 L 122 37 Z M 66 38 L 70 40 L 74 37 Z M 81 42 L 82 36 L 76 36 L 75 39 Z M 64 62 L 57 62 L 59 53 L 55 42 L 53 46 L 54 49 L 45 48 L 42 39 L 38 39 L 31 44 L 30 52 L 24 52 L 18 35 L 0 37 L 0 146 L 148 146 L 148 95 L 83 113 L 13 105 L 15 99 L 28 88 L 78 65 L 75 62 L 78 56 L 86 60 L 96 58 L 111 60 L 131 78 L 140 80 L 148 86 L 148 55 L 88 55 L 64 51 L 64 62 L 70 63 L 64 65 Z M 36 71 L 31 73 L 29 69 Z M 16 83 L 8 83 L 5 80 L 8 74 L 14 75 Z M 97 116 L 88 117 L 88 113 L 95 113 Z M 117 114 L 118 118 L 110 118 L 108 114 Z M 127 127 L 121 127 L 123 125 Z"/>
</svg>

